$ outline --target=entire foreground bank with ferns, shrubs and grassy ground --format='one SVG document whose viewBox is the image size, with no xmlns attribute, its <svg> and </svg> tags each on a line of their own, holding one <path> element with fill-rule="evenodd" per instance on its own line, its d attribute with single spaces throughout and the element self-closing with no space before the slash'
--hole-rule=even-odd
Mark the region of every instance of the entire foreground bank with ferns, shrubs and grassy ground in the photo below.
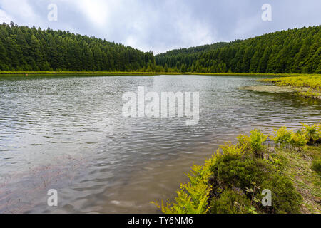
<svg viewBox="0 0 321 228">
<path fill-rule="evenodd" d="M 192 167 L 173 202 L 153 204 L 168 214 L 320 213 L 321 124 L 302 125 L 275 130 L 275 147 L 260 130 L 240 135 Z M 263 190 L 272 194 L 270 206 Z"/>
</svg>

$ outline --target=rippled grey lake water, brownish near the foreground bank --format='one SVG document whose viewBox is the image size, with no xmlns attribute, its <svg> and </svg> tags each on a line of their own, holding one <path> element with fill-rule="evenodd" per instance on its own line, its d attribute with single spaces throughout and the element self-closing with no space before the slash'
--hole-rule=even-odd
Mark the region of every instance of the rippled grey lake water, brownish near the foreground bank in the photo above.
<svg viewBox="0 0 321 228">
<path fill-rule="evenodd" d="M 0 76 L 0 213 L 158 212 L 190 165 L 239 133 L 321 120 L 320 101 L 245 76 Z M 123 118 L 122 95 L 200 92 L 200 122 Z M 47 191 L 58 191 L 48 207 Z"/>
</svg>

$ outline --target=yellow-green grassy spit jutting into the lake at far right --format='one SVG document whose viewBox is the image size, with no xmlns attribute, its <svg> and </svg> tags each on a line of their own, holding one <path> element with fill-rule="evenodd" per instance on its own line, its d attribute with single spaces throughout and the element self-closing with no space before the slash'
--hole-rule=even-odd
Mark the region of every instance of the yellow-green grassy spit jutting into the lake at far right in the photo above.
<svg viewBox="0 0 321 228">
<path fill-rule="evenodd" d="M 278 86 L 291 86 L 297 93 L 305 98 L 321 99 L 321 76 L 280 77 L 264 79 Z"/>
</svg>

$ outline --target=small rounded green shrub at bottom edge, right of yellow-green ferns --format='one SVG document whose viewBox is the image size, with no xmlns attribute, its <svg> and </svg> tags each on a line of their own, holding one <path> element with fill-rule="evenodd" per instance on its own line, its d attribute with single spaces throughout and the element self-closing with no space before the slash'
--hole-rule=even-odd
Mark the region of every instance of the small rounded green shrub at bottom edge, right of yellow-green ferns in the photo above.
<svg viewBox="0 0 321 228">
<path fill-rule="evenodd" d="M 211 214 L 246 214 L 252 207 L 250 199 L 242 192 L 226 190 L 220 198 L 213 198 L 210 202 Z"/>
</svg>

